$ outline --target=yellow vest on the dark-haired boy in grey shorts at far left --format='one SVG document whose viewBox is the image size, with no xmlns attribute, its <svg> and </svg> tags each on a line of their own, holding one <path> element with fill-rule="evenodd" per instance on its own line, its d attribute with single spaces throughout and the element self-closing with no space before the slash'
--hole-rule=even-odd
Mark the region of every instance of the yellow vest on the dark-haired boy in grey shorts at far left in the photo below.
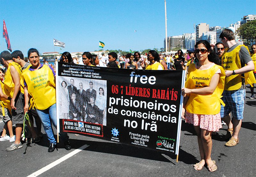
<svg viewBox="0 0 256 177">
<path fill-rule="evenodd" d="M 4 75 L 3 91 L 7 96 L 10 96 L 10 97 L 13 96 L 13 91 L 14 91 L 14 87 L 15 87 L 14 82 L 12 81 L 12 75 L 11 75 L 11 69 L 10 69 L 11 66 L 15 67 L 15 69 L 18 71 L 19 75 L 21 75 L 21 73 L 22 73 L 22 69 L 18 63 L 15 63 L 15 62 L 9 63 L 9 66 Z M 22 87 L 20 87 L 20 91 L 21 91 L 21 93 L 24 94 L 24 89 Z"/>
</svg>

